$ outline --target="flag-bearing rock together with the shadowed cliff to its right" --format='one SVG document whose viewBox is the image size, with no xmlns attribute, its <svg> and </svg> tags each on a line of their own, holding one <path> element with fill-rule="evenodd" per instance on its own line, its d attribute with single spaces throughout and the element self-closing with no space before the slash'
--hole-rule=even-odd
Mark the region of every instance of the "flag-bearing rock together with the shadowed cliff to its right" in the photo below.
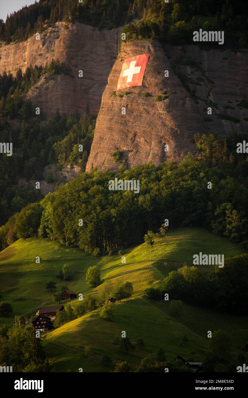
<svg viewBox="0 0 248 398">
<path fill-rule="evenodd" d="M 111 95 L 123 60 L 146 53 L 150 58 L 143 85 Z M 123 44 L 102 96 L 86 171 L 92 164 L 117 171 L 119 164 L 111 157 L 115 150 L 122 152 L 129 168 L 147 162 L 159 165 L 164 159 L 180 162 L 193 151 L 189 140 L 195 133 L 245 131 L 247 69 L 247 52 L 203 51 L 195 46 L 163 49 L 156 41 L 144 40 Z M 147 92 L 152 96 L 144 98 L 142 94 Z M 161 92 L 168 98 L 154 101 Z M 207 114 L 209 107 L 211 115 Z M 122 114 L 123 108 L 126 114 Z"/>
</svg>

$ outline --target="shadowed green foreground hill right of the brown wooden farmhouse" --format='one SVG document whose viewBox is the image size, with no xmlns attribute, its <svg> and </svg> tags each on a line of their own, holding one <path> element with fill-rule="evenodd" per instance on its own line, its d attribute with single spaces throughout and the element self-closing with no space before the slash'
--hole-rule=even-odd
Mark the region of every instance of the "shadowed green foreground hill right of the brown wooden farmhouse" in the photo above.
<svg viewBox="0 0 248 398">
<path fill-rule="evenodd" d="M 45 352 L 55 371 L 66 372 L 68 369 L 78 372 L 105 372 L 114 368 L 115 363 L 127 361 L 133 370 L 145 355 L 158 351 L 161 347 L 168 360 L 177 355 L 192 361 L 202 361 L 208 349 L 208 330 L 226 330 L 232 336 L 234 349 L 232 361 L 236 363 L 239 353 L 244 353 L 248 319 L 197 308 L 185 304 L 180 317 L 175 318 L 170 312 L 168 302 L 135 298 L 122 304 L 114 304 L 115 315 L 112 321 L 99 317 L 99 310 L 86 314 L 61 328 L 50 332 L 45 339 Z M 125 330 L 134 345 L 143 338 L 145 348 L 127 355 L 113 343 L 116 336 L 121 337 Z M 188 342 L 183 343 L 186 334 Z M 83 351 L 85 345 L 92 345 L 94 354 L 90 362 Z M 111 357 L 110 367 L 101 364 L 102 355 Z"/>
</svg>

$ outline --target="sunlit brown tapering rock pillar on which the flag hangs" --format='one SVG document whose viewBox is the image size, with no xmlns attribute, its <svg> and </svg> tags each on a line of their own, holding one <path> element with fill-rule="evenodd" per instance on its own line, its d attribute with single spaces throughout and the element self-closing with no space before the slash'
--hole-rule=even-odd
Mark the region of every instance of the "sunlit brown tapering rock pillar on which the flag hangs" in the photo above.
<svg viewBox="0 0 248 398">
<path fill-rule="evenodd" d="M 146 53 L 150 53 L 150 58 L 143 85 L 118 90 L 117 95 L 125 90 L 131 92 L 122 98 L 111 96 L 117 87 L 122 60 Z M 165 70 L 169 71 L 169 77 L 164 77 Z M 154 101 L 161 91 L 167 94 L 176 91 L 176 94 L 164 101 Z M 145 92 L 152 97 L 143 98 Z M 123 152 L 129 167 L 147 162 L 159 165 L 165 158 L 182 159 L 193 149 L 189 142 L 192 135 L 204 131 L 198 108 L 187 94 L 157 41 L 141 40 L 122 45 L 103 93 L 86 171 L 92 163 L 103 170 L 117 171 L 119 164 L 110 157 L 117 149 Z M 125 115 L 121 114 L 122 107 L 126 108 Z M 164 151 L 165 144 L 169 146 L 168 152 Z"/>
</svg>

